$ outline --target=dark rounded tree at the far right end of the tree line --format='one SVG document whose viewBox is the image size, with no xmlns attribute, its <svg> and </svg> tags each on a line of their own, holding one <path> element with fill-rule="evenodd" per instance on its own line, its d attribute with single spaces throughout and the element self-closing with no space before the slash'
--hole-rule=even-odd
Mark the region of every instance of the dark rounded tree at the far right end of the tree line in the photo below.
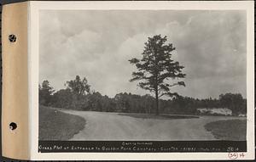
<svg viewBox="0 0 256 162">
<path fill-rule="evenodd" d="M 232 111 L 232 115 L 238 115 L 240 112 L 244 112 L 244 99 L 240 93 L 225 93 L 219 95 L 219 100 L 222 105 Z"/>
</svg>

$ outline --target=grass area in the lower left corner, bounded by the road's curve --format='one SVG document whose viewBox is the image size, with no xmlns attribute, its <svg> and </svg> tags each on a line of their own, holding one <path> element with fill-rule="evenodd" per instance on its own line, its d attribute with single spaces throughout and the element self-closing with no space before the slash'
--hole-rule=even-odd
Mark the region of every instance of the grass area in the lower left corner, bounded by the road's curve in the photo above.
<svg viewBox="0 0 256 162">
<path fill-rule="evenodd" d="M 39 106 L 39 140 L 68 140 L 84 129 L 84 118 Z"/>
</svg>

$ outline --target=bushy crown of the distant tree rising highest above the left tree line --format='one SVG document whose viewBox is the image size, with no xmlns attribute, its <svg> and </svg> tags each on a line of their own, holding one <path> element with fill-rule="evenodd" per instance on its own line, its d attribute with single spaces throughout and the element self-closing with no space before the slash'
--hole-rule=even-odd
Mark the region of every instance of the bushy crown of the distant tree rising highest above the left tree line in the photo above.
<svg viewBox="0 0 256 162">
<path fill-rule="evenodd" d="M 78 95 L 78 97 L 83 96 L 86 93 L 90 92 L 90 85 L 84 77 L 82 80 L 79 75 L 76 75 L 76 78 L 72 81 L 67 81 L 67 88 L 71 89 L 71 92 Z"/>
</svg>

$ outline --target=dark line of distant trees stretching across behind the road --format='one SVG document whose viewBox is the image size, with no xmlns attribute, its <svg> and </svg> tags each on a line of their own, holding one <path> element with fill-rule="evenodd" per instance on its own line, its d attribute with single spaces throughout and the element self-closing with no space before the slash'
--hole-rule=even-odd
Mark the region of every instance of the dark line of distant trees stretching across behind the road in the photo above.
<svg viewBox="0 0 256 162">
<path fill-rule="evenodd" d="M 91 90 L 84 77 L 79 75 L 74 80 L 67 81 L 65 88 L 55 91 L 49 81 L 39 85 L 39 103 L 44 106 L 61 109 L 92 110 L 119 113 L 147 113 L 155 114 L 155 98 L 150 94 L 137 95 L 130 92 L 120 92 L 113 98 Z M 240 93 L 226 93 L 219 98 L 189 98 L 177 96 L 176 98 L 159 100 L 160 114 L 186 114 L 196 115 L 199 108 L 228 108 L 233 115 L 246 113 L 246 99 Z"/>
</svg>

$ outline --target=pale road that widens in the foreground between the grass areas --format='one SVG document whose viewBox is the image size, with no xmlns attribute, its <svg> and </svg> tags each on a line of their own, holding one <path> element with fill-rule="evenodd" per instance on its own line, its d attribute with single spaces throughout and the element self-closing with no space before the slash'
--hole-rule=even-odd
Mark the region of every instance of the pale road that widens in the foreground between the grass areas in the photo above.
<svg viewBox="0 0 256 162">
<path fill-rule="evenodd" d="M 134 118 L 107 112 L 61 111 L 79 115 L 86 120 L 84 130 L 79 131 L 71 140 L 214 140 L 211 132 L 204 128 L 208 122 L 241 119 L 241 117 L 201 116 L 191 119 L 161 120 Z"/>
</svg>

